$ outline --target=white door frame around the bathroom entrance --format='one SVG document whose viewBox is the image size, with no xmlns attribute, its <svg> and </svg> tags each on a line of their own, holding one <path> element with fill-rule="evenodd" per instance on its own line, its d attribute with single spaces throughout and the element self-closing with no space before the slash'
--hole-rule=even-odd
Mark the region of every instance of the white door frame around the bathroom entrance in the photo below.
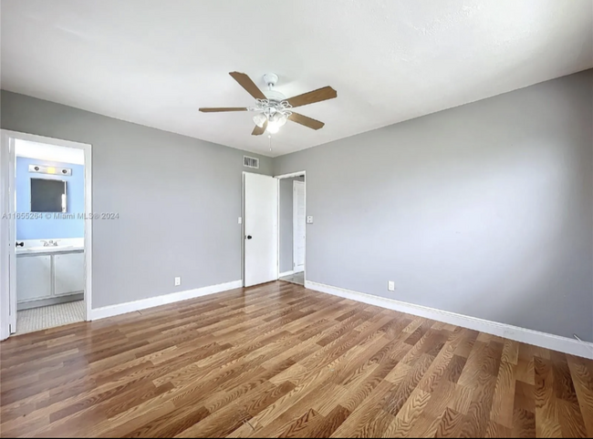
<svg viewBox="0 0 593 439">
<path fill-rule="evenodd" d="M 84 151 L 85 157 L 85 320 L 89 321 L 92 309 L 92 150 L 87 143 L 72 142 L 59 138 L 47 138 L 34 134 L 19 133 L 2 129 L 0 132 L 0 219 L 5 214 L 16 211 L 14 194 L 15 181 L 15 139 L 28 140 L 36 143 L 56 145 L 58 147 L 78 148 Z M 2 220 L 0 233 L 0 340 L 10 336 L 11 322 L 16 322 L 16 221 L 8 215 Z M 8 227 L 5 227 L 8 226 Z M 11 276 L 12 273 L 12 276 Z M 12 332 L 16 327 L 12 328 Z"/>
</svg>

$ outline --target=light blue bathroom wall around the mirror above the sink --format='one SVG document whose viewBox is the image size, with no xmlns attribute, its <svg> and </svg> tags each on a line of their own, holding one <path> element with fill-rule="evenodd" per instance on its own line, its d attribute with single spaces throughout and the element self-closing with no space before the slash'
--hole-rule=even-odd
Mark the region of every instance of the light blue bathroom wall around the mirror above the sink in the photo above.
<svg viewBox="0 0 593 439">
<path fill-rule="evenodd" d="M 71 176 L 36 174 L 29 172 L 29 165 L 54 166 L 57 168 L 71 168 Z M 31 178 L 61 179 L 67 181 L 67 213 L 73 213 L 75 219 L 56 218 L 60 214 L 51 213 L 51 218 L 43 215 L 42 219 L 17 219 L 17 240 L 50 240 L 65 238 L 83 238 L 84 220 L 78 220 L 77 214 L 85 211 L 85 171 L 83 165 L 63 163 L 57 161 L 39 160 L 36 158 L 16 158 L 16 212 L 31 211 Z"/>
</svg>

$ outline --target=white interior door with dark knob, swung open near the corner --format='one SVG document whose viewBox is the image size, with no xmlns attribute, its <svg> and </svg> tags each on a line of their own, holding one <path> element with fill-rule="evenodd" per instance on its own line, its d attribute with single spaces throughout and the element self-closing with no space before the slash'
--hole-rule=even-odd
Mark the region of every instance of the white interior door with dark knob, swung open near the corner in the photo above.
<svg viewBox="0 0 593 439">
<path fill-rule="evenodd" d="M 275 281 L 278 180 L 244 172 L 244 286 Z"/>
</svg>

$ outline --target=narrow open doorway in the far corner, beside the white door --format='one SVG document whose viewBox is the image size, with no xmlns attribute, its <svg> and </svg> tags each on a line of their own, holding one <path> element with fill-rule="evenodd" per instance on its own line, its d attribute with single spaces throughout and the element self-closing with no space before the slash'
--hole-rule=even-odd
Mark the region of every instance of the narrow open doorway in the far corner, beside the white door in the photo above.
<svg viewBox="0 0 593 439">
<path fill-rule="evenodd" d="M 278 177 L 278 279 L 305 285 L 305 173 Z"/>
</svg>

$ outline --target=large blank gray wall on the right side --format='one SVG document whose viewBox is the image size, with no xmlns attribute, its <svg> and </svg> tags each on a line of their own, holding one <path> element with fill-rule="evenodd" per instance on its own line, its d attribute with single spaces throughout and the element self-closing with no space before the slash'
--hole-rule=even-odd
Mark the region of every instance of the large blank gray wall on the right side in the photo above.
<svg viewBox="0 0 593 439">
<path fill-rule="evenodd" d="M 592 127 L 588 70 L 276 158 L 307 281 L 593 342 Z"/>
</svg>

